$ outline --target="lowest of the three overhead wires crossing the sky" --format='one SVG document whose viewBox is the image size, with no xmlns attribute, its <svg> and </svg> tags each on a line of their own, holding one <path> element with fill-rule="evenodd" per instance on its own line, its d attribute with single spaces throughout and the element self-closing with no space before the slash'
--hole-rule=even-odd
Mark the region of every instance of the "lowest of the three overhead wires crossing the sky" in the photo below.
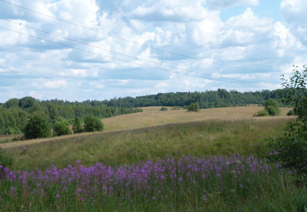
<svg viewBox="0 0 307 212">
<path fill-rule="evenodd" d="M 119 58 L 115 58 L 115 57 L 111 57 L 111 56 L 107 56 L 107 55 L 103 55 L 103 54 L 87 51 L 87 50 L 84 50 L 84 49 L 81 49 L 81 48 L 76 48 L 76 47 L 69 46 L 69 45 L 66 45 L 66 44 L 57 43 L 57 42 L 54 42 L 54 41 L 51 41 L 51 40 L 47 40 L 47 39 L 44 39 L 44 38 L 36 37 L 36 36 L 29 35 L 29 34 L 26 34 L 26 33 L 21 33 L 21 32 L 12 30 L 12 29 L 7 29 L 5 27 L 1 27 L 0 26 L 0 28 L 9 30 L 9 31 L 12 31 L 12 32 L 15 32 L 15 33 L 19 33 L 19 34 L 22 34 L 22 35 L 27 35 L 27 36 L 30 36 L 30 37 L 34 37 L 34 38 L 37 38 L 37 39 L 40 39 L 40 40 L 45 40 L 45 41 L 48 41 L 48 42 L 51 42 L 51 43 L 54 43 L 54 44 L 59 44 L 59 45 L 66 46 L 66 47 L 69 47 L 69 48 L 74 48 L 74 49 L 77 49 L 77 50 L 80 50 L 80 51 L 84 51 L 84 52 L 92 53 L 92 54 L 95 54 L 95 55 L 100 55 L 100 56 L 108 57 L 108 58 L 111 58 L 111 59 L 115 59 L 115 60 L 131 63 L 131 64 L 135 64 L 135 65 L 140 65 L 140 66 L 144 66 L 144 67 L 154 68 L 154 69 L 161 70 L 161 71 L 168 71 L 168 72 L 172 72 L 172 73 L 177 73 L 177 74 L 182 74 L 182 75 L 187 75 L 187 76 L 192 76 L 192 77 L 197 77 L 197 78 L 202 78 L 202 79 L 215 80 L 215 81 L 220 81 L 220 82 L 225 82 L 225 83 L 234 83 L 234 84 L 240 84 L 240 85 L 248 85 L 248 86 L 255 86 L 255 87 L 266 87 L 266 88 L 274 88 L 274 89 L 276 89 L 275 87 L 249 85 L 249 84 L 244 84 L 244 83 L 235 83 L 235 82 L 229 82 L 229 81 L 224 81 L 224 80 L 220 80 L 220 79 L 211 79 L 211 78 L 206 78 L 206 77 L 201 77 L 201 76 L 195 76 L 195 75 L 180 73 L 180 72 L 177 72 L 177 71 L 170 71 L 170 70 L 166 70 L 166 69 L 162 69 L 162 68 L 157 68 L 157 67 L 152 67 L 152 66 L 148 66 L 148 65 L 144 65 L 144 64 L 134 63 L 134 62 L 131 62 L 131 61 L 122 60 L 122 59 L 119 59 Z"/>
</svg>

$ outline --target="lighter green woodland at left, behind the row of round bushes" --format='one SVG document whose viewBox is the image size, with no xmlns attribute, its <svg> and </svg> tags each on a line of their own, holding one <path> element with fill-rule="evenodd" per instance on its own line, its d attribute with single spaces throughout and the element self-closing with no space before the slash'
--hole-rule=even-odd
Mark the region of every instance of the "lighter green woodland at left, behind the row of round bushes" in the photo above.
<svg viewBox="0 0 307 212">
<path fill-rule="evenodd" d="M 115 114 L 116 106 L 108 106 L 108 101 L 69 102 L 63 100 L 40 101 L 33 97 L 9 99 L 0 105 L 0 134 L 24 132 L 26 123 L 36 114 L 44 117 L 53 128 L 58 122 L 73 124 L 75 117 L 83 122 L 87 115 L 108 118 Z M 142 112 L 140 108 L 118 108 L 118 114 Z"/>
</svg>

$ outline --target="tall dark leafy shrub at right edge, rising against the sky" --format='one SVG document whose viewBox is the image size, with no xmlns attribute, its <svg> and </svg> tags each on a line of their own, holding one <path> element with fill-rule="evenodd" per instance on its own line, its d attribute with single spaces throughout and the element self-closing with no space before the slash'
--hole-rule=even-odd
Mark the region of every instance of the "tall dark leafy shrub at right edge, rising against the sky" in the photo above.
<svg viewBox="0 0 307 212">
<path fill-rule="evenodd" d="M 293 70 L 292 76 L 286 80 L 284 75 L 280 93 L 283 103 L 292 103 L 295 122 L 289 122 L 283 137 L 270 144 L 270 158 L 294 173 L 305 177 L 307 182 L 307 67 L 303 71 Z"/>
</svg>

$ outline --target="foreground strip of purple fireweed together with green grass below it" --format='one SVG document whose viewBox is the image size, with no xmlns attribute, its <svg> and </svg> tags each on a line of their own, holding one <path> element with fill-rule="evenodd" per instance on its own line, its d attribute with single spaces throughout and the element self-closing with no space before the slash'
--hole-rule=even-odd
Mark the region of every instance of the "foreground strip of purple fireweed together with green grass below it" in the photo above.
<svg viewBox="0 0 307 212">
<path fill-rule="evenodd" d="M 138 165 L 12 172 L 0 166 L 2 209 L 33 211 L 97 210 L 304 210 L 304 188 L 266 161 L 239 154 L 182 155 Z M 297 199 L 299 197 L 299 199 Z"/>
</svg>

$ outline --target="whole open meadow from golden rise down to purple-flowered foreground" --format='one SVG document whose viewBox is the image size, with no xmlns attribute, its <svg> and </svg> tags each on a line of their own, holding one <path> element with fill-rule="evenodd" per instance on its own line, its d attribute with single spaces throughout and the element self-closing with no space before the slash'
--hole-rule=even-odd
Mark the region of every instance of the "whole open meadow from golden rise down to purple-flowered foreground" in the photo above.
<svg viewBox="0 0 307 212">
<path fill-rule="evenodd" d="M 103 119 L 103 132 L 1 143 L 27 172 L 3 172 L 0 210 L 305 210 L 304 185 L 264 159 L 289 108 L 160 108 Z"/>
</svg>

